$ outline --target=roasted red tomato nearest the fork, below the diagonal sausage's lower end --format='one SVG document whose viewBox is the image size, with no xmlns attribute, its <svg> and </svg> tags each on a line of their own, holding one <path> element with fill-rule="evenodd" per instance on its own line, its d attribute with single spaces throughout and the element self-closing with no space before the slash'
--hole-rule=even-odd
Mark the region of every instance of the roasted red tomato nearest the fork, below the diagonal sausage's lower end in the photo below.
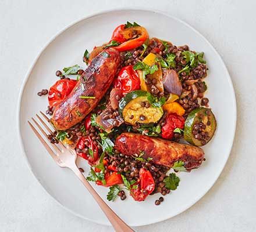
<svg viewBox="0 0 256 232">
<path fill-rule="evenodd" d="M 84 148 L 88 147 L 93 151 L 93 155 L 87 157 L 87 153 L 83 153 L 83 152 L 79 152 L 79 150 L 77 149 L 76 153 L 77 155 L 79 155 L 80 157 L 88 160 L 89 164 L 95 164 L 99 158 L 99 154 L 98 154 L 98 147 L 97 144 L 91 139 L 90 136 L 86 136 L 86 137 L 81 137 L 79 142 L 77 143 L 76 146 L 79 150 L 83 150 Z"/>
</svg>

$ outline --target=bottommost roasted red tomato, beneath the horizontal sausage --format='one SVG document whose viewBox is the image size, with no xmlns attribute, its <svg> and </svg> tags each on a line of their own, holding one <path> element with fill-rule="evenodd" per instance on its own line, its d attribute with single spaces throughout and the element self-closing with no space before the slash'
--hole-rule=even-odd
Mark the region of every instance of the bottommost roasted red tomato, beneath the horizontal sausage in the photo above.
<svg viewBox="0 0 256 232">
<path fill-rule="evenodd" d="M 144 168 L 140 169 L 139 176 L 138 187 L 137 189 L 131 189 L 130 195 L 135 201 L 144 201 L 155 189 L 155 182 L 150 171 Z"/>
</svg>

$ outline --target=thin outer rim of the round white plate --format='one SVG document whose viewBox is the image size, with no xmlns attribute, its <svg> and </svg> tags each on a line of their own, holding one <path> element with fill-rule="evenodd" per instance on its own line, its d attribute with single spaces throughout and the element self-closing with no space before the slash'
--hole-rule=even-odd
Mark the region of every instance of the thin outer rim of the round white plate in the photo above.
<svg viewBox="0 0 256 232">
<path fill-rule="evenodd" d="M 162 11 L 162 10 L 155 10 L 155 9 L 152 9 L 152 8 L 145 8 L 145 7 L 123 7 L 123 8 L 111 8 L 111 9 L 107 9 L 107 10 L 99 10 L 98 12 L 95 12 L 95 13 L 92 13 L 92 14 L 89 14 L 87 16 L 84 16 L 84 17 L 81 17 L 80 19 L 77 19 L 77 20 L 74 20 L 72 23 L 69 23 L 67 24 L 67 26 L 63 27 L 61 30 L 59 30 L 53 37 L 51 37 L 48 42 L 46 42 L 46 44 L 44 46 L 42 46 L 42 48 L 40 49 L 40 51 L 38 52 L 37 56 L 35 56 L 33 62 L 31 63 L 30 67 L 29 67 L 29 70 L 27 71 L 26 75 L 25 75 L 25 78 L 23 79 L 22 81 L 22 86 L 20 88 L 20 92 L 19 92 L 19 97 L 18 97 L 18 104 L 17 104 L 17 111 L 16 111 L 16 125 L 17 125 L 17 133 L 18 133 L 18 140 L 19 140 L 19 144 L 20 144 L 20 147 L 22 148 L 21 149 L 21 153 L 24 157 L 24 159 L 26 160 L 26 164 L 27 164 L 27 167 L 29 168 L 30 172 L 33 174 L 34 178 L 40 183 L 42 189 L 44 189 L 44 191 L 47 192 L 48 195 L 50 195 L 51 198 L 54 199 L 55 202 L 57 202 L 57 204 L 61 205 L 62 208 L 66 209 L 67 211 L 69 211 L 70 213 L 73 213 L 73 215 L 76 215 L 77 217 L 81 218 L 81 219 L 86 219 L 86 220 L 89 220 L 90 222 L 94 222 L 94 223 L 97 223 L 97 224 L 103 224 L 105 226 L 110 226 L 111 224 L 108 222 L 108 223 L 105 223 L 105 222 L 98 222 L 96 220 L 93 220 L 93 219 L 89 219 L 89 218 L 86 218 L 85 216 L 83 215 L 80 215 L 79 213 L 77 212 L 74 212 L 72 209 L 69 209 L 67 208 L 65 205 L 62 205 L 61 202 L 59 202 L 55 197 L 53 197 L 51 195 L 51 193 L 49 193 L 48 189 L 44 187 L 44 185 L 41 183 L 39 177 L 37 177 L 33 171 L 33 168 L 32 166 L 30 165 L 30 162 L 27 158 L 27 155 L 26 155 L 26 152 L 25 152 L 25 149 L 24 149 L 24 145 L 23 145 L 23 142 L 22 142 L 22 135 L 21 135 L 21 124 L 20 124 L 20 110 L 21 110 L 21 104 L 22 104 L 22 96 L 23 96 L 23 92 L 24 92 L 24 89 L 25 89 L 25 86 L 27 84 L 27 81 L 29 80 L 29 77 L 30 77 L 30 74 L 31 72 L 33 71 L 33 68 L 35 66 L 35 64 L 37 63 L 38 59 L 40 58 L 40 56 L 42 55 L 42 53 L 44 52 L 45 49 L 47 49 L 47 47 L 57 38 L 59 37 L 59 35 L 61 35 L 63 32 L 65 32 L 67 29 L 69 29 L 70 27 L 73 27 L 75 26 L 76 24 L 80 23 L 81 21 L 83 20 L 87 20 L 87 19 L 90 19 L 91 17 L 95 17 L 95 16 L 99 16 L 101 14 L 106 14 L 106 13 L 111 13 L 111 12 L 118 12 L 118 11 L 121 11 L 121 10 L 141 10 L 141 11 L 145 11 L 145 12 L 151 12 L 151 13 L 158 13 L 158 14 L 162 14 L 164 16 L 167 16 L 169 17 L 170 19 L 173 19 L 173 20 L 176 20 L 176 21 L 179 21 L 179 23 L 182 23 L 184 24 L 185 26 L 189 27 L 191 30 L 193 30 L 197 35 L 199 35 L 202 39 L 204 39 L 204 41 L 208 44 L 208 46 L 210 46 L 215 54 L 218 56 L 219 60 L 221 61 L 222 63 L 222 66 L 224 68 L 224 70 L 226 71 L 226 74 L 227 74 L 227 82 L 232 90 L 232 102 L 233 102 L 233 106 L 234 106 L 234 119 L 233 119 L 233 131 L 232 131 L 232 140 L 229 144 L 229 148 L 227 149 L 228 150 L 228 155 L 226 156 L 226 160 L 223 162 L 223 165 L 221 167 L 221 171 L 218 173 L 218 175 L 216 175 L 215 177 L 215 180 L 214 182 L 211 184 L 211 186 L 208 187 L 207 190 L 203 191 L 202 194 L 198 195 L 197 198 L 195 198 L 195 200 L 193 201 L 193 203 L 191 203 L 190 205 L 184 207 L 184 208 L 181 208 L 179 210 L 179 212 L 177 212 L 175 215 L 171 215 L 171 216 L 165 216 L 163 218 L 161 218 L 160 220 L 155 220 L 154 222 L 150 222 L 150 223 L 134 223 L 134 224 L 131 224 L 131 226 L 134 226 L 134 227 L 137 227 L 137 226 L 146 226 L 146 225 L 149 225 L 149 224 L 154 224 L 154 223 L 158 223 L 158 222 L 163 222 L 164 220 L 167 220 L 167 219 L 170 219 L 170 218 L 173 218 L 177 215 L 179 215 L 180 213 L 186 211 L 187 209 L 189 209 L 191 206 L 193 206 L 194 204 L 196 204 L 202 197 L 204 197 L 205 194 L 208 193 L 209 190 L 212 189 L 212 186 L 214 186 L 214 184 L 216 183 L 216 181 L 218 180 L 219 176 L 221 175 L 221 173 L 223 172 L 223 169 L 226 165 L 226 162 L 227 160 L 229 159 L 229 156 L 230 156 L 230 152 L 232 150 L 232 147 L 233 147 L 233 143 L 234 143 L 234 136 L 236 134 L 236 125 L 237 125 L 237 103 L 236 103 L 236 94 L 234 92 L 234 87 L 233 87 L 233 82 L 232 82 L 232 79 L 230 77 L 230 74 L 229 74 L 229 71 L 227 70 L 227 67 L 221 57 L 221 55 L 219 55 L 218 51 L 214 48 L 214 46 L 208 41 L 207 38 L 204 37 L 204 35 L 201 34 L 201 32 L 197 31 L 194 27 L 190 26 L 189 23 L 186 23 L 185 21 L 175 17 L 175 16 L 172 16 L 172 14 L 168 13 L 168 12 L 165 12 L 165 11 Z"/>
</svg>

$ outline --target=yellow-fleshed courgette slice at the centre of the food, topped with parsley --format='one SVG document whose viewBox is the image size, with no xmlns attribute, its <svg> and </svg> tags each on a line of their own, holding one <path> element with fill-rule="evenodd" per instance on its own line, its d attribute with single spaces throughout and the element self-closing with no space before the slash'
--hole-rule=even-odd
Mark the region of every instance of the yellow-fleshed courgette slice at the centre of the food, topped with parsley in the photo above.
<svg viewBox="0 0 256 232">
<path fill-rule="evenodd" d="M 148 92 L 135 90 L 127 93 L 120 100 L 119 111 L 123 115 L 126 123 L 135 125 L 137 122 L 141 124 L 150 124 L 158 122 L 163 115 L 162 107 L 144 107 L 143 102 L 148 101 Z"/>
</svg>

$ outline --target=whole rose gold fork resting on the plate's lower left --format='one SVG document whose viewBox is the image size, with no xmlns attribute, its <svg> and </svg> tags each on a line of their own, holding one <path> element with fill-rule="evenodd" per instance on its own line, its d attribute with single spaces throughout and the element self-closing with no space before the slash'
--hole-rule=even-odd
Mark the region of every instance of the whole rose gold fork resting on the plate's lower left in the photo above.
<svg viewBox="0 0 256 232">
<path fill-rule="evenodd" d="M 40 111 L 42 114 L 42 117 L 51 125 L 51 122 L 49 118 Z M 44 128 L 47 129 L 51 135 L 54 133 L 49 126 L 45 123 L 45 121 L 40 118 L 38 114 L 35 114 L 42 125 L 44 125 Z M 76 175 L 79 177 L 79 180 L 86 186 L 86 189 L 90 192 L 91 195 L 93 195 L 94 199 L 97 201 L 98 205 L 101 207 L 102 211 L 105 213 L 106 217 L 108 218 L 109 222 L 111 222 L 113 228 L 116 232 L 131 232 L 132 230 L 125 222 L 123 222 L 122 219 L 119 218 L 118 215 L 116 215 L 115 212 L 112 211 L 112 209 L 105 203 L 104 200 L 102 200 L 101 197 L 99 197 L 98 193 L 93 189 L 91 184 L 88 183 L 84 175 L 79 171 L 79 168 L 76 165 L 77 160 L 77 154 L 76 151 L 70 148 L 69 146 L 65 146 L 62 143 L 58 144 L 52 144 L 51 147 L 47 143 L 49 142 L 47 133 L 42 129 L 42 127 L 38 124 L 37 121 L 35 121 L 34 118 L 32 118 L 33 122 L 37 127 L 40 129 L 42 135 L 46 138 L 43 139 L 43 137 L 40 135 L 40 133 L 35 129 L 35 127 L 31 124 L 30 121 L 29 125 L 31 126 L 32 130 L 34 131 L 35 135 L 38 137 L 38 139 L 41 141 L 41 143 L 44 145 L 44 147 L 47 149 L 48 153 L 51 155 L 51 157 L 54 159 L 56 164 L 58 164 L 61 168 L 70 168 Z M 53 151 L 52 148 L 55 150 Z"/>
</svg>

